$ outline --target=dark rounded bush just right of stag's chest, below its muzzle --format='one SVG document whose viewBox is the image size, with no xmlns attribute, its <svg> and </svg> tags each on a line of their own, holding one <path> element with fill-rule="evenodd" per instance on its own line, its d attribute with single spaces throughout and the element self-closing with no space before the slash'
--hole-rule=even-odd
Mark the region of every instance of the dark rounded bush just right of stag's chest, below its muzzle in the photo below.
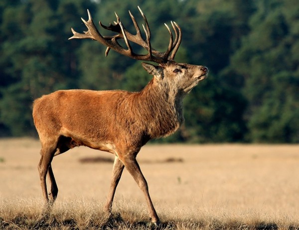
<svg viewBox="0 0 299 230">
<path fill-rule="evenodd" d="M 192 142 L 236 142 L 243 140 L 246 100 L 228 89 L 216 75 L 191 91 L 185 99 L 186 132 Z"/>
</svg>

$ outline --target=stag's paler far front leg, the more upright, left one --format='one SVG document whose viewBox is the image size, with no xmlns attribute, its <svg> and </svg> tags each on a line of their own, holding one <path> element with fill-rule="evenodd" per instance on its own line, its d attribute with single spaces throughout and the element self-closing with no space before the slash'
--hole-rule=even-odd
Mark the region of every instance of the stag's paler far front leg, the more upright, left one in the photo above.
<svg viewBox="0 0 299 230">
<path fill-rule="evenodd" d="M 120 159 L 117 156 L 115 156 L 113 170 L 112 170 L 110 190 L 109 190 L 107 202 L 106 202 L 106 205 L 104 208 L 105 212 L 108 212 L 109 214 L 111 213 L 114 194 L 116 191 L 116 187 L 121 179 L 123 170 L 124 170 L 124 164 L 120 161 Z"/>
</svg>

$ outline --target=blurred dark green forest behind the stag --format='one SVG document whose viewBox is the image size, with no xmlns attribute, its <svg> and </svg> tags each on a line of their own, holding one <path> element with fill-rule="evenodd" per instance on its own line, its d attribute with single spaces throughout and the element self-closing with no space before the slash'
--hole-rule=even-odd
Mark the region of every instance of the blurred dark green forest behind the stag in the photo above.
<svg viewBox="0 0 299 230">
<path fill-rule="evenodd" d="M 58 89 L 141 90 L 151 76 L 140 61 L 68 40 L 71 27 L 86 30 L 87 8 L 98 28 L 116 11 L 134 32 L 137 5 L 155 49 L 166 50 L 174 20 L 175 60 L 210 70 L 184 100 L 183 127 L 160 142 L 299 143 L 298 0 L 1 0 L 0 137 L 37 136 L 32 102 Z"/>
</svg>

